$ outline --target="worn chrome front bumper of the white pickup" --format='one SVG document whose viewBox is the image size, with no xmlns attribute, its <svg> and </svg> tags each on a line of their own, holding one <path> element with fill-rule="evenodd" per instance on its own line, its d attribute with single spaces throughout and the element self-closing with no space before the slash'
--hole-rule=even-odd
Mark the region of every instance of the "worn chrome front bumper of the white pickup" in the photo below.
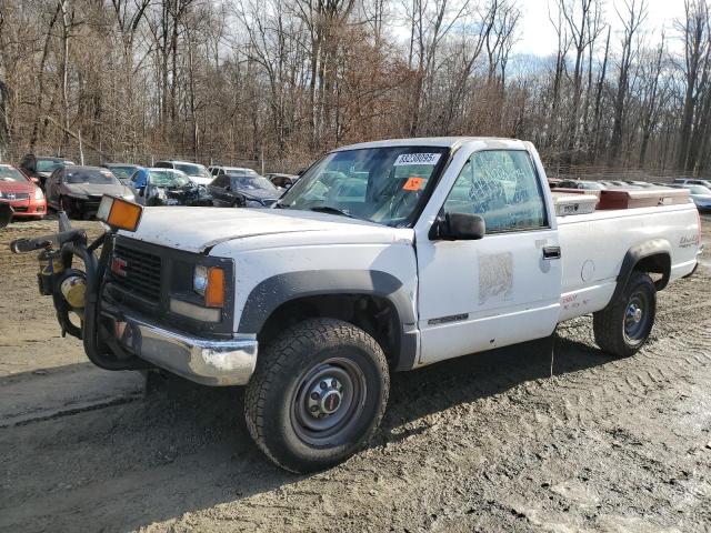
<svg viewBox="0 0 711 533">
<path fill-rule="evenodd" d="M 156 366 L 203 385 L 244 385 L 257 364 L 257 335 L 204 340 L 158 328 L 136 318 L 117 322 L 128 350 Z M 119 331 L 120 330 L 120 331 Z"/>
</svg>

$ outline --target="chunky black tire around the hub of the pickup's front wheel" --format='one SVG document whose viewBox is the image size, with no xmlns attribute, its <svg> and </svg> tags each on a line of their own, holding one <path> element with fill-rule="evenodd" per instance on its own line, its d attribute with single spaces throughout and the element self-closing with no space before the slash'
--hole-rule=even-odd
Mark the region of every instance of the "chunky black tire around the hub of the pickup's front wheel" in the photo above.
<svg viewBox="0 0 711 533">
<path fill-rule="evenodd" d="M 304 442 L 294 410 L 302 391 L 308 394 L 304 380 L 330 368 L 332 361 L 360 369 L 364 393 L 362 401 L 351 402 L 351 408 L 358 408 L 356 414 L 342 419 L 349 421 L 350 430 L 327 435 L 328 442 L 317 445 Z M 247 428 L 264 454 L 282 469 L 296 473 L 324 470 L 368 443 L 382 419 L 389 389 L 388 362 L 372 336 L 341 320 L 307 320 L 284 330 L 260 352 L 244 396 Z M 337 409 L 341 406 L 339 401 Z"/>
</svg>

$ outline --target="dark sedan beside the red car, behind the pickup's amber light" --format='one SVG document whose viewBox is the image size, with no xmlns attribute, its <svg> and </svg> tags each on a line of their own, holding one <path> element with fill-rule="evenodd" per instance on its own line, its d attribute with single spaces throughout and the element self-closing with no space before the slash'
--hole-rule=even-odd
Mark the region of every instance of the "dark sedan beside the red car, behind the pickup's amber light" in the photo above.
<svg viewBox="0 0 711 533">
<path fill-rule="evenodd" d="M 49 207 L 80 218 L 96 214 L 104 194 L 136 199 L 131 189 L 101 167 L 60 167 L 47 179 L 46 191 Z"/>
</svg>

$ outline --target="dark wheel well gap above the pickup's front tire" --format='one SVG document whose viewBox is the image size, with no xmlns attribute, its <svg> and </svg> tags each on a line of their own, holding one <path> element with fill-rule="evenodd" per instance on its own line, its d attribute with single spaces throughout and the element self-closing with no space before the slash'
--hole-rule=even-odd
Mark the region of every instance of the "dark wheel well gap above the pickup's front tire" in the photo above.
<svg viewBox="0 0 711 533">
<path fill-rule="evenodd" d="M 339 319 L 360 328 L 382 349 L 391 365 L 400 354 L 400 319 L 394 305 L 373 294 L 322 294 L 289 300 L 277 308 L 257 334 L 268 344 L 279 332 L 307 319 Z"/>
</svg>

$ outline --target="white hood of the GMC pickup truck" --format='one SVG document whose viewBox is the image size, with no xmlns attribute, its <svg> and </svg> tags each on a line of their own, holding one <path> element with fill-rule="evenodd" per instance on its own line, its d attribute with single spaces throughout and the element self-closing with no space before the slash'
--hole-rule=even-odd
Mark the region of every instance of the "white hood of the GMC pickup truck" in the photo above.
<svg viewBox="0 0 711 533">
<path fill-rule="evenodd" d="M 146 208 L 138 230 L 121 234 L 153 244 L 207 253 L 218 244 L 244 248 L 412 242 L 412 230 L 311 211 L 247 208 Z"/>
</svg>

